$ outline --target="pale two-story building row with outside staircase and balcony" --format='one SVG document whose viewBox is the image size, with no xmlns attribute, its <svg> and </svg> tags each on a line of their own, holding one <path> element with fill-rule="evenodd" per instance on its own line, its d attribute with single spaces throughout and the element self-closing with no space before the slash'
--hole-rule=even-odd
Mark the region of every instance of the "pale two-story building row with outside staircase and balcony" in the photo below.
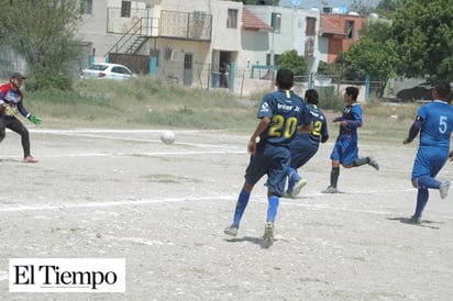
<svg viewBox="0 0 453 301">
<path fill-rule="evenodd" d="M 253 77 L 255 67 L 267 71 L 286 51 L 306 56 L 310 71 L 320 57 L 314 10 L 221 0 L 84 1 L 87 10 L 78 32 L 87 46 L 87 65 L 107 58 L 148 73 L 144 60 L 134 65 L 128 59 L 155 57 L 157 74 L 206 86 L 208 74 L 218 73 L 222 62 L 234 64 L 233 73 Z"/>
</svg>

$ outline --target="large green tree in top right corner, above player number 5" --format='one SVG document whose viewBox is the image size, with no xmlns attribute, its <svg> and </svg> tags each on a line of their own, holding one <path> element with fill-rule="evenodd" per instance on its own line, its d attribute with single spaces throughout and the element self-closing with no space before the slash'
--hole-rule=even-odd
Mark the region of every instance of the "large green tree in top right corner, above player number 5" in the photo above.
<svg viewBox="0 0 453 301">
<path fill-rule="evenodd" d="M 431 79 L 453 76 L 452 0 L 399 0 L 391 37 L 400 55 L 400 75 Z"/>
</svg>

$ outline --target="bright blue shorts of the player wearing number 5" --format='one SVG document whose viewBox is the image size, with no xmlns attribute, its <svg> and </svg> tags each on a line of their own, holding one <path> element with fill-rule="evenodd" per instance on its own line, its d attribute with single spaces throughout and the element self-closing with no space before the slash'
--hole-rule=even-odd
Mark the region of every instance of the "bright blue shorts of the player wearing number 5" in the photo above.
<svg viewBox="0 0 453 301">
<path fill-rule="evenodd" d="M 413 161 L 411 180 L 421 176 L 435 177 L 449 159 L 449 149 L 420 146 Z"/>
</svg>

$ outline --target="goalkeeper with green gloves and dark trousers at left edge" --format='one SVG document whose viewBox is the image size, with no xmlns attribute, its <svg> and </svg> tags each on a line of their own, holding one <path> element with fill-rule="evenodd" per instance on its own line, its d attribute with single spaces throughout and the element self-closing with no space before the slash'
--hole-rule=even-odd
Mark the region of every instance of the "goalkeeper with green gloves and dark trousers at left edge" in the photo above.
<svg viewBox="0 0 453 301">
<path fill-rule="evenodd" d="M 41 118 L 30 114 L 23 105 L 23 93 L 20 90 L 22 80 L 25 79 L 21 74 L 14 73 L 10 82 L 0 86 L 0 142 L 3 141 L 5 129 L 21 135 L 23 160 L 25 163 L 37 163 L 37 159 L 30 154 L 30 134 L 22 122 L 15 118 L 19 111 L 24 118 L 35 125 L 41 124 Z"/>
</svg>

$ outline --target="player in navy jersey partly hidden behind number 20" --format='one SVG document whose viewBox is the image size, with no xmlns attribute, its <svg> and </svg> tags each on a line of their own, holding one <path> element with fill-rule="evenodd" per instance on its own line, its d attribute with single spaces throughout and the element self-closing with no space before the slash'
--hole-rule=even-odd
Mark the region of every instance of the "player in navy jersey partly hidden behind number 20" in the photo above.
<svg viewBox="0 0 453 301">
<path fill-rule="evenodd" d="M 309 133 L 296 133 L 291 142 L 291 165 L 288 168 L 288 189 L 285 197 L 295 198 L 307 180 L 299 176 L 297 169 L 306 165 L 318 152 L 319 144 L 329 138 L 328 123 L 324 113 L 318 108 L 319 96 L 314 89 L 306 91 L 303 100 L 310 110 L 313 130 Z"/>
</svg>

